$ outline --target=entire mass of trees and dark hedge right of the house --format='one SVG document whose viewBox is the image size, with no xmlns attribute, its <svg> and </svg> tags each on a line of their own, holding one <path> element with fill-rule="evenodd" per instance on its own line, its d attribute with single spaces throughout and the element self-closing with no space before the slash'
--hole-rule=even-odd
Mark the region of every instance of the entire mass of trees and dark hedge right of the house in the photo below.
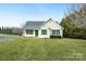
<svg viewBox="0 0 86 64">
<path fill-rule="evenodd" d="M 60 24 L 64 28 L 64 37 L 86 39 L 86 5 L 66 15 Z"/>
</svg>

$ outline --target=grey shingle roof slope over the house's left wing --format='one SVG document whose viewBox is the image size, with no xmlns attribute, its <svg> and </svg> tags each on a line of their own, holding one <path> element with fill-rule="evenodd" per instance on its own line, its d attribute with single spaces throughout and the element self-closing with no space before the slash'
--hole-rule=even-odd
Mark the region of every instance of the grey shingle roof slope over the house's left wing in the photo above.
<svg viewBox="0 0 86 64">
<path fill-rule="evenodd" d="M 39 28 L 46 21 L 27 21 L 24 28 L 25 29 L 36 29 Z"/>
</svg>

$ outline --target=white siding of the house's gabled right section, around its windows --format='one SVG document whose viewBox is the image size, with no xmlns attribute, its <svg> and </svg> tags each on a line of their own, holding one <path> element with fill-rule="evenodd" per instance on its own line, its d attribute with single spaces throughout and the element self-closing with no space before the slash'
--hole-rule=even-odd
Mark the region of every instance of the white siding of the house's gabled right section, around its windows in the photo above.
<svg viewBox="0 0 86 64">
<path fill-rule="evenodd" d="M 47 29 L 47 35 L 41 35 L 41 29 Z M 42 25 L 39 29 L 39 38 L 50 38 L 50 35 L 52 34 L 52 29 L 60 29 L 60 36 L 62 37 L 62 27 L 57 24 L 54 21 L 49 21 L 45 25 Z"/>
</svg>

